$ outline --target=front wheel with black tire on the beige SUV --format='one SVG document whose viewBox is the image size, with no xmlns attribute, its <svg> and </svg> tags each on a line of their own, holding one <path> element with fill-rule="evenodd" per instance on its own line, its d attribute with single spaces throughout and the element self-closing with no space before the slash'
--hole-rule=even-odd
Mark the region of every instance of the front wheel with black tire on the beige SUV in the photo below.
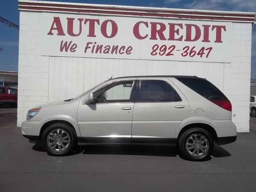
<svg viewBox="0 0 256 192">
<path fill-rule="evenodd" d="M 64 133 L 62 135 L 67 138 L 63 139 L 63 141 L 62 141 L 62 138 L 64 138 L 64 137 L 62 137 L 61 134 L 56 134 L 56 135 L 51 134 L 51 137 L 50 137 L 51 139 L 48 139 L 48 135 L 50 133 L 56 132 L 56 131 L 58 132 L 58 130 L 59 130 L 59 132 L 62 132 L 62 130 L 63 130 Z M 59 137 L 58 137 L 58 135 L 59 135 Z M 54 139 L 56 141 L 54 141 Z M 68 141 L 69 141 L 69 143 L 68 143 Z M 56 142 L 58 144 L 55 146 Z M 59 144 L 59 143 L 61 143 L 61 144 Z M 70 153 L 72 153 L 74 151 L 74 149 L 77 146 L 76 132 L 73 128 L 71 128 L 70 126 L 68 126 L 66 124 L 62 124 L 62 123 L 52 124 L 48 128 L 46 128 L 46 130 L 44 130 L 44 132 L 42 134 L 42 138 L 41 138 L 41 144 L 49 155 L 52 155 L 52 156 L 69 155 Z M 49 145 L 53 144 L 53 145 L 48 146 L 48 144 Z M 55 148 L 53 148 L 54 146 L 55 146 Z M 66 148 L 64 148 L 62 146 L 66 146 Z M 57 150 L 63 150 L 63 151 L 57 151 Z"/>
</svg>

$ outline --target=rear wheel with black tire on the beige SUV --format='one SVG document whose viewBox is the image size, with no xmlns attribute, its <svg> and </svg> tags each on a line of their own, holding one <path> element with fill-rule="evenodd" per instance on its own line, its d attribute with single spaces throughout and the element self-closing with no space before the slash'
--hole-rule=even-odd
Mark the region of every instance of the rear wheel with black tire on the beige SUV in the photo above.
<svg viewBox="0 0 256 192">
<path fill-rule="evenodd" d="M 206 140 L 201 142 L 200 138 L 202 138 L 202 141 L 204 141 L 204 139 Z M 178 146 L 180 148 L 180 153 L 187 160 L 202 161 L 212 154 L 214 149 L 214 140 L 208 131 L 202 128 L 191 128 L 186 130 L 180 136 Z M 194 151 L 195 154 L 193 154 Z"/>
</svg>

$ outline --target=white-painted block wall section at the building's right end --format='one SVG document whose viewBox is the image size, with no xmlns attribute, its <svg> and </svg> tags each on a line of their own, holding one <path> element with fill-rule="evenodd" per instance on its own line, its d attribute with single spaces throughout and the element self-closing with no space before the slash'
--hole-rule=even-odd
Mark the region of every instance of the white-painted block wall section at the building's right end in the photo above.
<svg viewBox="0 0 256 192">
<path fill-rule="evenodd" d="M 231 63 L 224 64 L 224 94 L 232 103 L 238 132 L 249 132 L 252 24 L 232 24 Z"/>
</svg>

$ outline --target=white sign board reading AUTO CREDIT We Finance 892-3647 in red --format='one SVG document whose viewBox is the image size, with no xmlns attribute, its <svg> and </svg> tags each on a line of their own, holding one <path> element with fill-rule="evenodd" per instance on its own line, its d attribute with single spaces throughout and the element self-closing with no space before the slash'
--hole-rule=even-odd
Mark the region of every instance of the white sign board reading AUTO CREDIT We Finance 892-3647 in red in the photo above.
<svg viewBox="0 0 256 192">
<path fill-rule="evenodd" d="M 231 22 L 42 13 L 42 55 L 230 62 Z"/>
</svg>

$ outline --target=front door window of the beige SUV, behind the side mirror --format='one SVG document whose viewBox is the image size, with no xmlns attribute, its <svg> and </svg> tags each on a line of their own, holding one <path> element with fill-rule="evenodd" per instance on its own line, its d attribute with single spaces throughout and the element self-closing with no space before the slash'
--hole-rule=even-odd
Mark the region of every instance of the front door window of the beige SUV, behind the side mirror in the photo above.
<svg viewBox="0 0 256 192">
<path fill-rule="evenodd" d="M 93 98 L 96 103 L 126 103 L 130 102 L 134 81 L 121 81 L 108 84 L 96 91 Z"/>
</svg>

